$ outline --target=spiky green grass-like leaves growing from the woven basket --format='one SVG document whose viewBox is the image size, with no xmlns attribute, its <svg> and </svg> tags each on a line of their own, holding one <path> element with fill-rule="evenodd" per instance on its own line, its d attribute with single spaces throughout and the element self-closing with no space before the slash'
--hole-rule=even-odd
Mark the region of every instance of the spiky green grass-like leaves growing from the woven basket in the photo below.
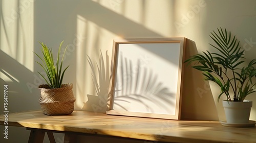
<svg viewBox="0 0 256 143">
<path fill-rule="evenodd" d="M 61 61 L 59 61 L 59 54 L 60 49 L 63 41 L 59 45 L 58 55 L 57 55 L 57 62 L 54 63 L 53 53 L 52 49 L 50 49 L 46 44 L 39 42 L 41 44 L 41 52 L 42 57 L 39 56 L 34 52 L 34 54 L 39 57 L 42 61 L 42 63 L 37 62 L 42 69 L 45 70 L 47 77 L 44 77 L 41 73 L 37 72 L 42 78 L 45 79 L 46 83 L 49 85 L 50 88 L 60 88 L 63 80 L 63 76 L 65 74 L 65 71 L 69 67 L 69 65 L 62 71 L 62 63 L 63 63 L 63 57 L 66 53 L 67 47 L 63 53 L 63 57 Z M 62 72 L 62 73 L 61 73 Z M 48 80 L 47 80 L 48 79 Z"/>
</svg>

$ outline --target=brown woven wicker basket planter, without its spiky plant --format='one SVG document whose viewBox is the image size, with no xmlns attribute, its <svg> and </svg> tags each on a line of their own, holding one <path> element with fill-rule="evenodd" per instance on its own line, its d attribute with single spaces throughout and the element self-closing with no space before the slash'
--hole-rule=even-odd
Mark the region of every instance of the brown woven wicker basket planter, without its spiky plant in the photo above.
<svg viewBox="0 0 256 143">
<path fill-rule="evenodd" d="M 48 85 L 39 85 L 41 97 L 39 104 L 46 115 L 67 115 L 74 111 L 73 84 L 62 84 L 61 88 L 50 89 Z"/>
</svg>

